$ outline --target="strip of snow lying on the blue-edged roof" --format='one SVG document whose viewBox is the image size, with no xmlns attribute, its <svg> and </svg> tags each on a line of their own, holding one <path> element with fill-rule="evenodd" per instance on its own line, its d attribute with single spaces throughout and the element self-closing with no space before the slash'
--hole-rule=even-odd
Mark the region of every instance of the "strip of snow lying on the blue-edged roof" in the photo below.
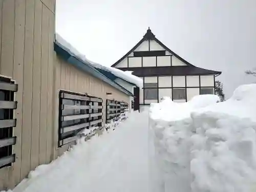
<svg viewBox="0 0 256 192">
<path fill-rule="evenodd" d="M 119 69 L 116 68 L 112 68 L 112 67 L 106 67 L 106 66 L 102 66 L 99 63 L 90 61 L 89 59 L 86 58 L 85 55 L 81 54 L 79 51 L 77 51 L 69 42 L 67 42 L 65 39 L 63 39 L 59 34 L 55 35 L 56 41 L 63 47 L 65 47 L 66 49 L 69 50 L 69 52 L 71 54 L 73 54 L 73 56 L 81 59 L 83 62 L 88 63 L 89 65 L 93 66 L 94 68 L 98 68 L 98 69 L 102 69 L 108 72 L 111 72 L 113 75 L 124 79 L 125 81 L 131 82 L 133 84 L 136 84 L 136 86 L 138 86 L 139 88 L 143 88 L 143 81 L 141 78 L 132 75 L 131 71 L 121 71 Z"/>
</svg>

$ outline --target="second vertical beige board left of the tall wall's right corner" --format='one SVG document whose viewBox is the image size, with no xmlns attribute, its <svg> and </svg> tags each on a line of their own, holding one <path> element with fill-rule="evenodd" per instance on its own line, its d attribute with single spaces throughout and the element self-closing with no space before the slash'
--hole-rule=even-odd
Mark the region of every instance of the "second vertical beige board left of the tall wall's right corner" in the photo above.
<svg viewBox="0 0 256 192">
<path fill-rule="evenodd" d="M 39 164 L 42 3 L 35 1 L 31 169 Z"/>
</svg>

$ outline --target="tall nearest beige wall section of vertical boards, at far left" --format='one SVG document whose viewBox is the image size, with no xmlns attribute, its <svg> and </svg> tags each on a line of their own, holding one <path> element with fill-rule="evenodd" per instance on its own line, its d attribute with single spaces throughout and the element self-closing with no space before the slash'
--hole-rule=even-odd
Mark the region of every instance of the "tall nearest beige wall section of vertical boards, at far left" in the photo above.
<svg viewBox="0 0 256 192">
<path fill-rule="evenodd" d="M 18 84 L 16 155 L 0 169 L 0 190 L 53 159 L 55 0 L 0 0 L 0 74 Z"/>
</svg>

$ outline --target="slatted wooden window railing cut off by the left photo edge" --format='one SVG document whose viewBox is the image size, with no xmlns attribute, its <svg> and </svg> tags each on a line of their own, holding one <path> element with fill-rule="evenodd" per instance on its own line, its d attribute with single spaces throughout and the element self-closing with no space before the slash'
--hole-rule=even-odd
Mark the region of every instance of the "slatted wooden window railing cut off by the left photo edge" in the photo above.
<svg viewBox="0 0 256 192">
<path fill-rule="evenodd" d="M 15 161 L 15 154 L 12 154 L 12 145 L 16 143 L 13 136 L 13 127 L 16 126 L 16 119 L 13 118 L 13 110 L 17 108 L 14 101 L 14 93 L 17 91 L 17 84 L 9 78 L 0 77 L 0 168 L 10 166 Z"/>
</svg>

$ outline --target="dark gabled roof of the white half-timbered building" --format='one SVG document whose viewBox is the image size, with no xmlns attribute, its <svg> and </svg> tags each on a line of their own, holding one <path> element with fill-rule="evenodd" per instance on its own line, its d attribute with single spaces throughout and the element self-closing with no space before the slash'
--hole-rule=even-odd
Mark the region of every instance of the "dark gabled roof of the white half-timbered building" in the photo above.
<svg viewBox="0 0 256 192">
<path fill-rule="evenodd" d="M 156 38 L 156 36 L 152 33 L 151 29 L 148 28 L 146 31 L 146 34 L 143 36 L 143 38 L 129 51 L 127 52 L 122 58 L 120 58 L 118 61 L 116 61 L 111 67 L 116 67 L 118 65 L 118 63 L 120 63 L 123 59 L 125 59 L 127 56 L 129 56 L 135 49 L 137 49 L 143 41 L 145 40 L 155 40 L 160 46 L 162 46 L 166 51 L 168 51 L 169 53 L 171 53 L 172 55 L 174 55 L 175 57 L 177 57 L 178 59 L 180 59 L 182 62 L 184 62 L 188 67 L 193 67 L 193 68 L 198 68 L 194 65 L 192 65 L 191 63 L 189 63 L 188 61 L 186 61 L 185 59 L 183 59 L 182 57 L 180 57 L 178 54 L 176 54 L 175 52 L 173 52 L 172 50 L 170 50 L 168 47 L 166 47 L 160 40 L 158 40 Z M 187 67 L 187 66 L 180 66 L 181 69 L 182 67 Z M 174 66 L 172 66 L 173 68 Z M 147 67 L 145 67 L 147 68 Z M 157 68 L 162 68 L 162 67 L 157 67 Z M 119 68 L 121 70 L 124 70 L 124 68 Z M 127 69 L 127 68 L 125 68 Z M 130 68 L 129 68 L 130 69 Z M 156 67 L 155 67 L 156 69 Z M 188 69 L 188 68 L 187 68 Z M 199 68 L 200 72 L 204 72 L 204 74 L 218 74 L 220 75 L 221 72 L 220 71 L 212 71 L 212 70 L 206 70 L 206 69 L 202 69 Z M 203 70 L 203 71 L 202 71 Z M 195 71 L 195 69 L 194 69 Z M 136 75 L 136 74 L 134 74 Z"/>
</svg>

